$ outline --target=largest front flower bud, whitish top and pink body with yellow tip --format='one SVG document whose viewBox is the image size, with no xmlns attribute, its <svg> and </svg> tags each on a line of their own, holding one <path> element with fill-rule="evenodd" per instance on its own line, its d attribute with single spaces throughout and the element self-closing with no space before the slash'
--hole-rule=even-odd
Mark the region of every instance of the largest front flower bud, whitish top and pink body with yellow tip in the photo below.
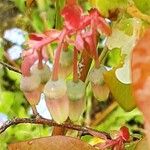
<svg viewBox="0 0 150 150">
<path fill-rule="evenodd" d="M 44 87 L 46 105 L 52 118 L 57 123 L 63 123 L 69 115 L 69 101 L 67 97 L 67 86 L 64 80 L 49 80 Z"/>
</svg>

